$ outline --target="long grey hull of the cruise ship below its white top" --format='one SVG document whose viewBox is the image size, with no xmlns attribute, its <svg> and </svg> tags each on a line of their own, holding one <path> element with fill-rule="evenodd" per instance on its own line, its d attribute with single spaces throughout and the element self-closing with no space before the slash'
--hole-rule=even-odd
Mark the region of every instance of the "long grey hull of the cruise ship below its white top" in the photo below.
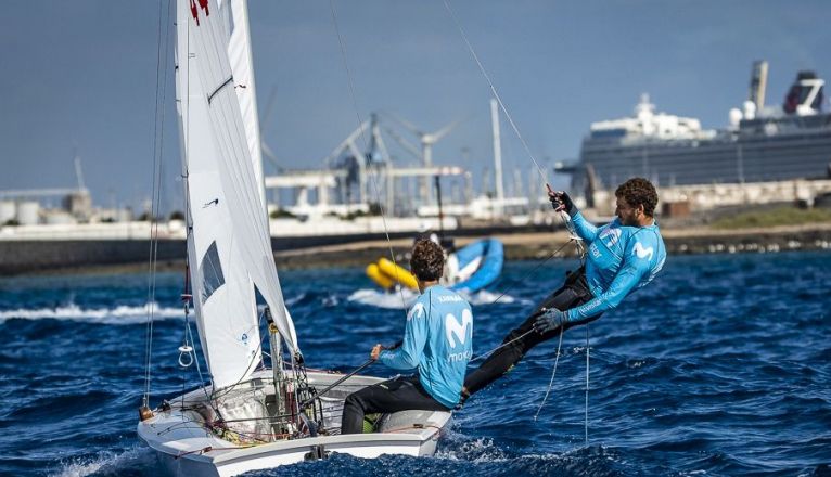
<svg viewBox="0 0 831 477">
<path fill-rule="evenodd" d="M 587 138 L 580 153 L 604 186 L 645 177 L 659 185 L 824 178 L 831 163 L 831 114 L 788 121 L 742 121 L 713 139 Z"/>
</svg>

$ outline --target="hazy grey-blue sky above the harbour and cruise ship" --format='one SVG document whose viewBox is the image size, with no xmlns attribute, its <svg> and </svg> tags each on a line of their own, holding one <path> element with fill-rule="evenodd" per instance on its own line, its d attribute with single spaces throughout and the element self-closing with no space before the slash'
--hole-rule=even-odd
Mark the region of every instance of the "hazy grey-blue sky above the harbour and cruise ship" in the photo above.
<svg viewBox="0 0 831 477">
<path fill-rule="evenodd" d="M 530 171 L 530 156 L 546 169 L 576 159 L 592 121 L 629 116 L 644 92 L 659 111 L 721 128 L 746 100 L 754 60 L 769 62 L 768 104 L 801 69 L 831 78 L 827 1 L 447 4 L 530 150 L 502 117 L 506 182 Z M 77 151 L 94 204 L 140 209 L 161 150 L 163 207 L 176 209 L 169 1 L 2 5 L 0 190 L 75 186 Z M 381 112 L 425 131 L 461 119 L 434 164 L 471 170 L 477 189 L 493 170 L 490 89 L 445 0 L 250 0 L 250 13 L 263 137 L 281 167 L 322 167 L 359 119 Z M 396 162 L 414 163 L 386 142 Z"/>
</svg>

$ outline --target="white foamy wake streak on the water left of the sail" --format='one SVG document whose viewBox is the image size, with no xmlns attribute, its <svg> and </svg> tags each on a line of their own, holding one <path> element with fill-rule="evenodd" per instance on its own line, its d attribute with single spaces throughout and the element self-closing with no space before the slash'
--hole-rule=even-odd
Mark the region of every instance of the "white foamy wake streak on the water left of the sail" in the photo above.
<svg viewBox="0 0 831 477">
<path fill-rule="evenodd" d="M 181 318 L 182 309 L 178 307 L 161 307 L 158 304 L 146 304 L 142 307 L 119 305 L 114 308 L 81 308 L 69 304 L 56 308 L 36 308 L 0 311 L 0 324 L 7 320 L 73 320 L 101 324 L 137 324 L 144 323 L 151 308 L 156 320 Z"/>
</svg>

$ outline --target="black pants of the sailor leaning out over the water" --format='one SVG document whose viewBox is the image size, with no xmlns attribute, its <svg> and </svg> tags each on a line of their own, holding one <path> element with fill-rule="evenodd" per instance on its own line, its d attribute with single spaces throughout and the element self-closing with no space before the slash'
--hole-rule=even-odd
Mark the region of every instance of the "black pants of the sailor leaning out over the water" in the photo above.
<svg viewBox="0 0 831 477">
<path fill-rule="evenodd" d="M 586 283 L 585 269 L 580 268 L 575 272 L 567 273 L 563 286 L 537 305 L 534 312 L 519 327 L 512 330 L 504 337 L 502 344 L 510 344 L 499 348 L 478 369 L 465 376 L 464 387 L 468 389 L 468 394 L 472 395 L 496 381 L 499 376 L 507 374 L 535 346 L 560 336 L 559 327 L 545 334 L 534 331 L 534 322 L 542 308 L 557 308 L 558 310 L 565 311 L 578 307 L 591 298 L 591 291 L 589 291 L 588 283 Z M 568 322 L 563 326 L 563 331 L 572 326 L 586 324 L 598 318 L 600 318 L 600 314 L 580 321 Z"/>
</svg>

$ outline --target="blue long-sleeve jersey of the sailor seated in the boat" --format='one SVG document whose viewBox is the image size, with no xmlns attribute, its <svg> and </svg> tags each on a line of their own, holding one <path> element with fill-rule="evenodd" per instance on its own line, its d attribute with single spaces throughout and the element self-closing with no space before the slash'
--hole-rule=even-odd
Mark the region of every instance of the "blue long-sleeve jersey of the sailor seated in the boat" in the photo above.
<svg viewBox="0 0 831 477">
<path fill-rule="evenodd" d="M 418 368 L 430 396 L 452 408 L 459 402 L 472 354 L 471 306 L 455 292 L 433 285 L 407 313 L 401 346 L 381 351 L 379 360 L 395 370 Z"/>
</svg>

